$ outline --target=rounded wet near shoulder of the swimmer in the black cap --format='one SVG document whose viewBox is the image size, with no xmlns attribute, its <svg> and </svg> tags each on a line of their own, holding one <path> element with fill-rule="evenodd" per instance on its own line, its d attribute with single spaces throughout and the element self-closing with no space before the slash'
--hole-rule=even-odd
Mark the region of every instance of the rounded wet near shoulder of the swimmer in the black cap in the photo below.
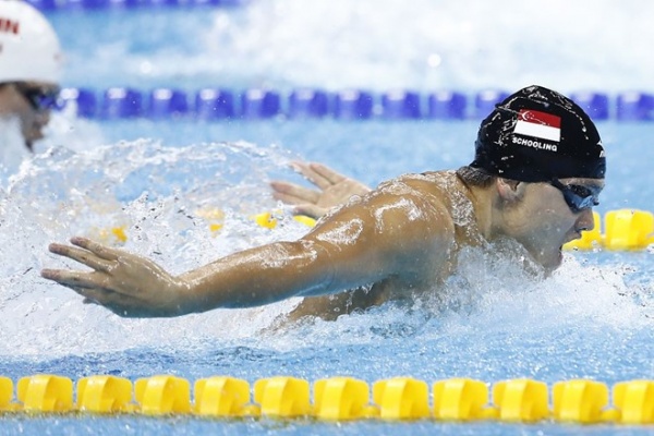
<svg viewBox="0 0 654 436">
<path fill-rule="evenodd" d="M 438 181 L 411 174 L 385 182 L 330 214 L 305 239 L 339 251 L 351 246 L 361 254 L 374 254 L 388 267 L 395 266 L 398 276 L 431 264 L 428 259 L 416 262 L 415 255 L 440 256 L 455 242 L 450 202 Z M 398 268 L 398 262 L 408 265 Z"/>
</svg>

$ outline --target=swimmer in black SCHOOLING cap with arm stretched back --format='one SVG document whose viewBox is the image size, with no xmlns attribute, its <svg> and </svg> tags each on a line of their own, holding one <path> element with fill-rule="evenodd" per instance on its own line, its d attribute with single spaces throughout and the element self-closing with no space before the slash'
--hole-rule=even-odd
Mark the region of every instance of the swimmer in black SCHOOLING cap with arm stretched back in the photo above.
<svg viewBox="0 0 654 436">
<path fill-rule="evenodd" d="M 90 270 L 41 275 L 125 317 L 303 296 L 290 319 L 334 318 L 438 292 L 465 246 L 513 241 L 509 245 L 543 270 L 554 270 L 562 245 L 593 228 L 605 168 L 600 135 L 584 111 L 556 92 L 530 86 L 482 122 L 469 166 L 384 182 L 329 210 L 296 241 L 245 250 L 173 276 L 145 257 L 73 238 L 71 245 L 50 244 L 50 252 Z"/>
</svg>

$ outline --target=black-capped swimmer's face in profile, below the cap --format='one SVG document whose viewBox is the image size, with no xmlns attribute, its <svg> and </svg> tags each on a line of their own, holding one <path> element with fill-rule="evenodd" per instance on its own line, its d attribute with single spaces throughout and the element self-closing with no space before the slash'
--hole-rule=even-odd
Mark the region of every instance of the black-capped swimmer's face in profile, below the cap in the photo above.
<svg viewBox="0 0 654 436">
<path fill-rule="evenodd" d="M 562 186 L 556 187 L 550 183 L 520 183 L 521 198 L 507 214 L 510 235 L 547 270 L 561 264 L 565 243 L 581 238 L 583 230 L 594 228 L 592 206 L 596 197 L 589 198 L 579 209 L 568 204 L 570 199 L 566 201 L 564 192 L 572 189 L 572 192 L 583 193 L 588 189 L 596 195 L 604 187 L 604 180 L 560 179 L 560 184 Z"/>
</svg>

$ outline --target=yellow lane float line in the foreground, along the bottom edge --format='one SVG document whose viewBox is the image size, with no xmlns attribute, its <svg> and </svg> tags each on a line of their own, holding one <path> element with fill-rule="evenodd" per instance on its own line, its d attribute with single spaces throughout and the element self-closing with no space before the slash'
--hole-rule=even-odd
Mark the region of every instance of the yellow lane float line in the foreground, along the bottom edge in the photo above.
<svg viewBox="0 0 654 436">
<path fill-rule="evenodd" d="M 320 421 L 654 423 L 654 380 L 647 379 L 620 382 L 611 389 L 592 379 L 557 382 L 552 389 L 538 380 L 510 379 L 495 383 L 491 399 L 488 385 L 470 378 L 438 380 L 431 391 L 424 380 L 389 378 L 375 382 L 371 396 L 363 380 L 332 377 L 313 384 L 313 401 L 310 382 L 281 376 L 258 379 L 253 387 L 239 378 L 202 378 L 193 385 L 193 401 L 191 382 L 172 375 L 140 378 L 134 384 L 107 375 L 84 377 L 76 383 L 76 401 L 73 385 L 58 375 L 23 377 L 16 387 L 17 401 L 13 401 L 13 382 L 0 377 L 0 411 Z"/>
</svg>

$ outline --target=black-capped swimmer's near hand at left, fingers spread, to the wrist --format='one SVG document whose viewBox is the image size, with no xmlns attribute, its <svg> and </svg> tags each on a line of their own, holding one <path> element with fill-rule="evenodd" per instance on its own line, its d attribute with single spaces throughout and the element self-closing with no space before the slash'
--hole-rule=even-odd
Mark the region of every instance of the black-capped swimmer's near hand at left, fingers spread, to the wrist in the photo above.
<svg viewBox="0 0 654 436">
<path fill-rule="evenodd" d="M 51 253 L 90 267 L 92 271 L 44 269 L 41 276 L 84 296 L 85 303 L 101 304 L 124 317 L 183 315 L 183 280 L 154 262 L 108 247 L 86 238 L 72 238 L 72 245 L 50 244 Z"/>
</svg>

